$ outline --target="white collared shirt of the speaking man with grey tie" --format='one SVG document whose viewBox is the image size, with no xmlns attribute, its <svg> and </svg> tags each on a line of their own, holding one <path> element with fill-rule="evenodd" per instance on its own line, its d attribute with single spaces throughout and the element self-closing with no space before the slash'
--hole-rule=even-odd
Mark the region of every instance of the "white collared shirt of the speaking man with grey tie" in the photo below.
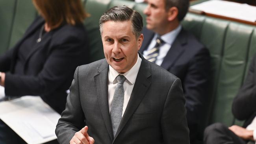
<svg viewBox="0 0 256 144">
<path fill-rule="evenodd" d="M 108 107 L 109 107 L 109 113 L 110 113 L 111 107 L 112 107 L 112 101 L 113 101 L 113 97 L 114 97 L 114 93 L 115 93 L 115 87 L 117 86 L 116 77 L 118 75 L 123 75 L 126 78 L 126 80 L 124 81 L 124 84 L 123 84 L 124 85 L 124 105 L 122 107 L 122 116 L 123 116 L 124 111 L 127 107 L 127 104 L 130 100 L 132 90 L 134 88 L 134 83 L 135 83 L 135 80 L 137 78 L 137 74 L 139 72 L 140 66 L 141 66 L 141 58 L 139 57 L 139 54 L 138 54 L 138 58 L 137 58 L 136 63 L 134 64 L 134 66 L 132 66 L 132 68 L 124 74 L 120 74 L 119 72 L 117 72 L 114 68 L 112 68 L 109 65 L 109 71 L 108 71 Z"/>
</svg>

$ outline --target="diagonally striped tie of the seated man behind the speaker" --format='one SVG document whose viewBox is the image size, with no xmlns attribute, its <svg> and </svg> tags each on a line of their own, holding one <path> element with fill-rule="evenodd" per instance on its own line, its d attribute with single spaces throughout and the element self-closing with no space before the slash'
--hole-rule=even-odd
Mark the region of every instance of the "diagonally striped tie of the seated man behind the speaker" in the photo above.
<svg viewBox="0 0 256 144">
<path fill-rule="evenodd" d="M 148 61 L 156 63 L 156 57 L 159 54 L 159 48 L 161 44 L 164 44 L 164 41 L 158 36 L 156 38 L 156 45 L 151 50 L 148 50 L 148 55 L 145 57 Z"/>
</svg>

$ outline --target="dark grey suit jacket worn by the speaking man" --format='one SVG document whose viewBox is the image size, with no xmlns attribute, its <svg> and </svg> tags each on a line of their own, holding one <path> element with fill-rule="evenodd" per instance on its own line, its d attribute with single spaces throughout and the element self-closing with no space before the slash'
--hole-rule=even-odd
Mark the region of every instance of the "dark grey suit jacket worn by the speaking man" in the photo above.
<svg viewBox="0 0 256 144">
<path fill-rule="evenodd" d="M 76 68 L 65 111 L 56 127 L 68 144 L 85 125 L 95 144 L 189 144 L 185 99 L 179 78 L 142 58 L 130 100 L 113 137 L 105 59 Z"/>
</svg>

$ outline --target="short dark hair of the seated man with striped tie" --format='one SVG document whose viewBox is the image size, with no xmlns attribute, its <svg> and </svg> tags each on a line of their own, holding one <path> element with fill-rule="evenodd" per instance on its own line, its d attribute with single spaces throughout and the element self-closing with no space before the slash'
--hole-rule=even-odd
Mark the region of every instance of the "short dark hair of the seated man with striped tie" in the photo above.
<svg viewBox="0 0 256 144">
<path fill-rule="evenodd" d="M 178 20 L 182 21 L 187 14 L 189 0 L 165 0 L 165 9 L 168 10 L 171 7 L 178 8 Z"/>
</svg>

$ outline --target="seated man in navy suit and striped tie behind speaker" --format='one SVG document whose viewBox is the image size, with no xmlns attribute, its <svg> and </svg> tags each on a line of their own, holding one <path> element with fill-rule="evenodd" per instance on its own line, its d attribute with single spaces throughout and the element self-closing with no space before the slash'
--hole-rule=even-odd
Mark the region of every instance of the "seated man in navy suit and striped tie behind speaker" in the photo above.
<svg viewBox="0 0 256 144">
<path fill-rule="evenodd" d="M 189 0 L 147 0 L 147 28 L 139 50 L 143 56 L 181 79 L 186 98 L 191 143 L 195 140 L 208 95 L 210 55 L 197 39 L 184 30 Z"/>
</svg>

